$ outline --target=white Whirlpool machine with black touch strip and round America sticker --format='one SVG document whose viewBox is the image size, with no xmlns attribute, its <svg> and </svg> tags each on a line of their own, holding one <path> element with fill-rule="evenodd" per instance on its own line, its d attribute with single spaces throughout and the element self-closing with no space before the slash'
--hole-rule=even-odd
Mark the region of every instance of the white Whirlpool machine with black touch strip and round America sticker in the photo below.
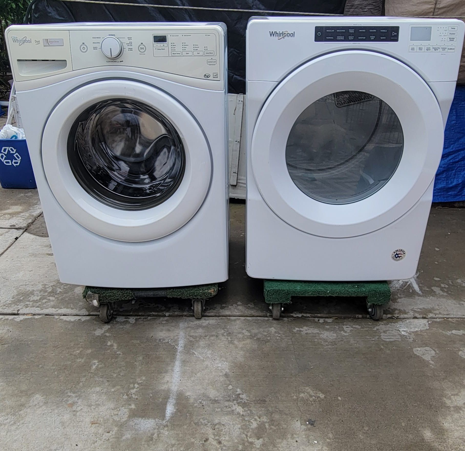
<svg viewBox="0 0 465 451">
<path fill-rule="evenodd" d="M 415 275 L 463 39 L 448 19 L 249 21 L 248 275 Z"/>
</svg>

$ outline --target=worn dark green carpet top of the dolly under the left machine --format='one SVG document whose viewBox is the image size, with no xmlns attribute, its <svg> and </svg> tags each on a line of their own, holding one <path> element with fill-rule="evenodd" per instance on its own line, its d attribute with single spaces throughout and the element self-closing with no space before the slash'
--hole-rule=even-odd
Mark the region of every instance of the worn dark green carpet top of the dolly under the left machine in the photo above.
<svg viewBox="0 0 465 451">
<path fill-rule="evenodd" d="M 176 288 L 102 288 L 86 287 L 82 292 L 85 299 L 88 294 L 98 294 L 99 302 L 129 301 L 139 298 L 178 298 L 178 299 L 209 299 L 218 294 L 218 284 L 193 285 Z"/>
</svg>

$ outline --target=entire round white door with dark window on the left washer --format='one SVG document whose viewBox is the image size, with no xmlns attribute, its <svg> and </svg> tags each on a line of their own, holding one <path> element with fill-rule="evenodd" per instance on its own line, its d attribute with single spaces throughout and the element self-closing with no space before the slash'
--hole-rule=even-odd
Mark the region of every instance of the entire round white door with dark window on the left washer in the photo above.
<svg viewBox="0 0 465 451">
<path fill-rule="evenodd" d="M 189 111 L 153 86 L 103 80 L 52 111 L 42 161 L 61 207 L 92 232 L 126 242 L 166 236 L 208 191 L 212 159 Z"/>
</svg>

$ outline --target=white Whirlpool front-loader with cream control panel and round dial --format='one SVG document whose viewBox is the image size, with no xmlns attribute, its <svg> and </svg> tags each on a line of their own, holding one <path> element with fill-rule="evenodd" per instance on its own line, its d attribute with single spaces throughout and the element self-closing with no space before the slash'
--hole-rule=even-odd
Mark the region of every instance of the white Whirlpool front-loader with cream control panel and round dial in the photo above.
<svg viewBox="0 0 465 451">
<path fill-rule="evenodd" d="M 225 281 L 226 26 L 10 26 L 6 40 L 60 280 Z"/>
</svg>

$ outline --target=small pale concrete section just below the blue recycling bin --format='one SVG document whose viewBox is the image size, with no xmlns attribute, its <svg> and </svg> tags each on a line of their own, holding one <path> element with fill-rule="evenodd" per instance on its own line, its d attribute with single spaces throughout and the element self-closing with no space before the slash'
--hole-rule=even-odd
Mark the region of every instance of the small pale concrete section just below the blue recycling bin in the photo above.
<svg viewBox="0 0 465 451">
<path fill-rule="evenodd" d="M 25 229 L 42 212 L 37 190 L 0 188 L 0 228 Z"/>
</svg>

